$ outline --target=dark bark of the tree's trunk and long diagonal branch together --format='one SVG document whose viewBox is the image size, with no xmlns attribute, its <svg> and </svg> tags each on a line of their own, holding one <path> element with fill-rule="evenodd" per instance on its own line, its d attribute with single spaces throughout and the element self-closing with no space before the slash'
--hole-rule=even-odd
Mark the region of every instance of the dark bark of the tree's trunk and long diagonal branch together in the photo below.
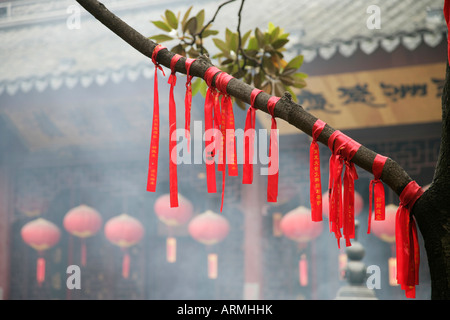
<svg viewBox="0 0 450 320">
<path fill-rule="evenodd" d="M 121 37 L 133 48 L 143 55 L 151 58 L 157 43 L 138 33 L 120 18 L 111 13 L 103 4 L 96 0 L 76 0 L 98 21 L 108 27 L 113 33 Z M 169 50 L 161 50 L 156 58 L 157 62 L 170 68 L 170 61 L 174 53 Z M 175 66 L 175 71 L 186 74 L 185 58 L 181 58 Z M 204 79 L 206 70 L 213 66 L 207 57 L 195 60 L 190 69 L 190 75 Z M 447 68 L 446 84 L 442 99 L 442 143 L 440 157 L 436 167 L 436 173 L 430 188 L 416 202 L 412 209 L 420 232 L 425 242 L 430 273 L 432 279 L 432 299 L 450 298 L 450 84 L 449 70 Z M 214 84 L 214 80 L 213 80 Z M 250 94 L 254 87 L 233 78 L 227 86 L 227 93 L 237 99 L 250 104 Z M 255 108 L 269 113 L 267 102 L 271 96 L 261 93 L 255 101 Z M 299 104 L 292 101 L 286 93 L 277 103 L 274 115 L 295 126 L 308 135 L 312 135 L 312 128 L 317 118 L 308 113 Z M 326 125 L 319 136 L 318 141 L 328 145 L 328 139 L 335 131 Z M 372 164 L 377 154 L 361 146 L 351 161 L 360 168 L 372 173 Z M 407 172 L 393 159 L 388 158 L 383 168 L 381 180 L 391 188 L 398 196 L 405 186 L 412 181 Z"/>
</svg>

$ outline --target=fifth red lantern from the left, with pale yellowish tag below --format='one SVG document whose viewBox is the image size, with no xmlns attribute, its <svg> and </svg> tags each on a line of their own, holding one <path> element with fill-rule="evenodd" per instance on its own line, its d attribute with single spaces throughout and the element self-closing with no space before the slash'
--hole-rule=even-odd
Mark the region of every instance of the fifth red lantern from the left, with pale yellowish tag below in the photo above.
<svg viewBox="0 0 450 320">
<path fill-rule="evenodd" d="M 230 225 L 228 220 L 211 210 L 194 217 L 188 226 L 189 234 L 200 243 L 209 247 L 221 242 L 228 235 Z M 216 279 L 218 275 L 218 256 L 216 253 L 208 254 L 208 277 Z"/>
</svg>

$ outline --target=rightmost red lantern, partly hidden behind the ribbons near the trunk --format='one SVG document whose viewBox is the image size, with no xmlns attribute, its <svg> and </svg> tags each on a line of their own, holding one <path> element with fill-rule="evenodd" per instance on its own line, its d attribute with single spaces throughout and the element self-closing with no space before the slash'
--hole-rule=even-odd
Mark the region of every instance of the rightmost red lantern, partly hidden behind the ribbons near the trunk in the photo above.
<svg viewBox="0 0 450 320">
<path fill-rule="evenodd" d="M 389 204 L 385 209 L 384 220 L 372 219 L 372 233 L 391 245 L 392 256 L 389 258 L 389 284 L 391 286 L 398 285 L 397 283 L 397 258 L 394 256 L 395 252 L 395 218 L 398 206 Z M 374 214 L 372 214 L 373 218 Z"/>
</svg>

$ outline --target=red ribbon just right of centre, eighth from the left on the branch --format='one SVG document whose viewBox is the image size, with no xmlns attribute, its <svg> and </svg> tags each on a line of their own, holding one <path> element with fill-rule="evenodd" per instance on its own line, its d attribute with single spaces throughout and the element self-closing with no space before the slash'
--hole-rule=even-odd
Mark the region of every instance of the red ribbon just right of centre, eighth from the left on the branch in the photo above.
<svg viewBox="0 0 450 320">
<path fill-rule="evenodd" d="M 269 146 L 269 172 L 267 176 L 267 201 L 277 202 L 278 197 L 278 130 L 275 120 L 275 105 L 280 97 L 272 96 L 267 102 L 267 110 L 272 116 L 272 125 L 270 128 L 270 146 Z"/>
</svg>

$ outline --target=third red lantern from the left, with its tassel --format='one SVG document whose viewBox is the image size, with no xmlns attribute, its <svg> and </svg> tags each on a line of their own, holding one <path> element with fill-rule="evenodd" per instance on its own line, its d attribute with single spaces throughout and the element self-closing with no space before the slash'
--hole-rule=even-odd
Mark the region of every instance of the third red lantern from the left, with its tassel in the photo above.
<svg viewBox="0 0 450 320">
<path fill-rule="evenodd" d="M 122 213 L 109 219 L 105 224 L 104 230 L 106 238 L 122 249 L 122 276 L 128 278 L 130 273 L 128 248 L 141 241 L 144 236 L 144 226 L 136 218 Z"/>
</svg>

